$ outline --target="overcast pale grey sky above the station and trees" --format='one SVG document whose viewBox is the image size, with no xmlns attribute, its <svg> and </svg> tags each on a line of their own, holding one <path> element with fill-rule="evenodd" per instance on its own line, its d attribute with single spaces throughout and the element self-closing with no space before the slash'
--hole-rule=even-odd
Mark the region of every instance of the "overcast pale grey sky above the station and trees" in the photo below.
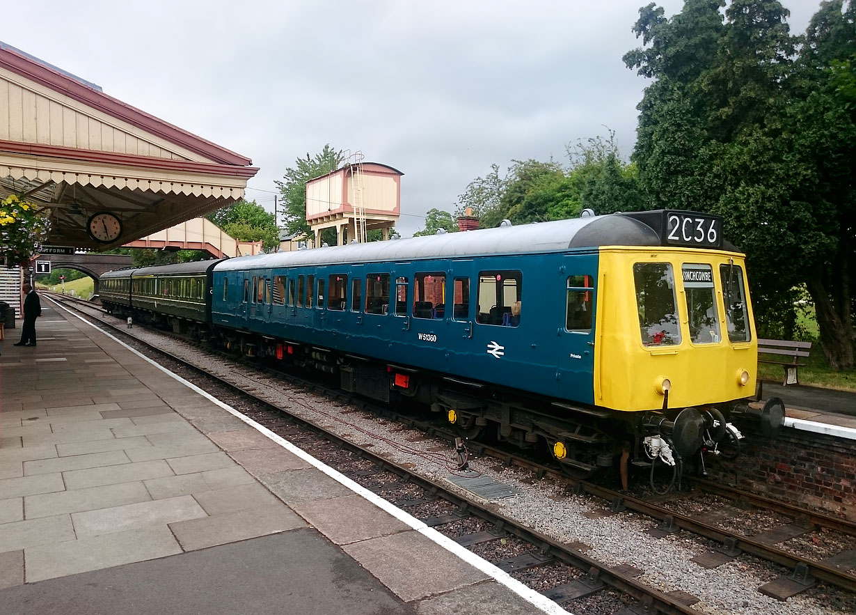
<svg viewBox="0 0 856 615">
<path fill-rule="evenodd" d="M 646 3 L 29 0 L 3 3 L 0 40 L 253 158 L 247 199 L 270 211 L 274 181 L 326 143 L 389 164 L 409 236 L 492 163 L 567 163 L 604 127 L 627 158 L 646 81 L 621 57 Z M 819 0 L 783 4 L 802 33 Z"/>
</svg>

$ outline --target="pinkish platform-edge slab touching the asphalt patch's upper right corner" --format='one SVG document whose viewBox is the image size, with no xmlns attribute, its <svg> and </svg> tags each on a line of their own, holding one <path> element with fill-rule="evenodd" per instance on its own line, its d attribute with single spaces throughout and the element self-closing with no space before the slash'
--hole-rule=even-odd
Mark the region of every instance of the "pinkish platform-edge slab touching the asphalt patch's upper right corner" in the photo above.
<svg viewBox="0 0 856 615">
<path fill-rule="evenodd" d="M 337 545 L 410 530 L 360 495 L 303 502 L 293 508 Z"/>
</svg>

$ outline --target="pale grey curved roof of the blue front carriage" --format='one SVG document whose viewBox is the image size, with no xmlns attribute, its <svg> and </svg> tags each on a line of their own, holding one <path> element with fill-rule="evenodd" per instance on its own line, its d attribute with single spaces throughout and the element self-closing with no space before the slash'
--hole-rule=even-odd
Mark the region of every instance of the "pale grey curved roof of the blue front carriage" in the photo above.
<svg viewBox="0 0 856 615">
<path fill-rule="evenodd" d="M 388 242 L 352 243 L 347 246 L 313 248 L 296 252 L 277 252 L 222 260 L 216 271 L 235 271 L 247 267 L 273 268 L 301 265 L 334 265 L 402 260 L 460 259 L 500 254 L 533 254 L 600 246 L 669 245 L 665 230 L 669 214 L 704 216 L 704 220 L 722 219 L 698 212 L 630 212 L 607 216 L 587 216 L 538 224 L 499 226 L 494 229 L 411 237 Z M 693 218 L 701 219 L 701 218 Z M 692 227 L 691 227 L 691 230 Z M 717 235 L 720 233 L 717 231 Z M 734 249 L 717 236 L 708 249 Z M 136 275 L 136 274 L 135 274 Z"/>
</svg>

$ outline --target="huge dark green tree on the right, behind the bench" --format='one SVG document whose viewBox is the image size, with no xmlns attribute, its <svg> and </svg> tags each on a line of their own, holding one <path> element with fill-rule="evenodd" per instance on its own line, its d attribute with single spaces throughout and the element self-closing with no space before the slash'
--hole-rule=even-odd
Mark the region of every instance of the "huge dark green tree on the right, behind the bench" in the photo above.
<svg viewBox="0 0 856 615">
<path fill-rule="evenodd" d="M 761 325 L 793 334 L 805 284 L 829 365 L 853 367 L 853 3 L 823 3 L 802 39 L 776 0 L 723 5 L 639 9 L 645 47 L 624 61 L 654 80 L 633 152 L 645 207 L 722 215 Z"/>
</svg>

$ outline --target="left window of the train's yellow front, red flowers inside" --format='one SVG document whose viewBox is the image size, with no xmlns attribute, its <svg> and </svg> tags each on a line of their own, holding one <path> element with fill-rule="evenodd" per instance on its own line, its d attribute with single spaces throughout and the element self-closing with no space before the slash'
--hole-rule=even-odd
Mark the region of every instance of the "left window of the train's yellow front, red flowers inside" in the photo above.
<svg viewBox="0 0 856 615">
<path fill-rule="evenodd" d="M 681 325 L 675 307 L 675 274 L 669 263 L 633 265 L 639 331 L 645 346 L 681 343 Z"/>
</svg>

